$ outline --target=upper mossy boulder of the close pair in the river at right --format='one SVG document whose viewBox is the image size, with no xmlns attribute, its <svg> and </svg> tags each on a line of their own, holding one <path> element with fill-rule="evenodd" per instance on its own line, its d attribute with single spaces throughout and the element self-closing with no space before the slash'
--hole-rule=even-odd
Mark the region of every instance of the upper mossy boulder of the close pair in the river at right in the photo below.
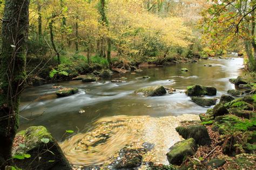
<svg viewBox="0 0 256 170">
<path fill-rule="evenodd" d="M 201 96 L 201 95 L 213 96 L 217 94 L 217 89 L 214 87 L 205 87 L 205 86 L 196 84 L 194 86 L 187 87 L 186 94 L 188 96 Z"/>
</svg>

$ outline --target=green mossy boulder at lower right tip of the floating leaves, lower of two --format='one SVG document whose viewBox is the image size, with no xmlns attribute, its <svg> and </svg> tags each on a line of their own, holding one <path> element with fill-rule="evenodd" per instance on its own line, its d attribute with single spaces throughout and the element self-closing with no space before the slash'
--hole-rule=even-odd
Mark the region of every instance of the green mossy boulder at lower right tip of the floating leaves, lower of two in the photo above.
<svg viewBox="0 0 256 170">
<path fill-rule="evenodd" d="M 181 165 L 183 160 L 192 156 L 197 151 L 196 141 L 193 138 L 179 141 L 174 144 L 166 154 L 168 161 L 173 165 Z"/>
</svg>

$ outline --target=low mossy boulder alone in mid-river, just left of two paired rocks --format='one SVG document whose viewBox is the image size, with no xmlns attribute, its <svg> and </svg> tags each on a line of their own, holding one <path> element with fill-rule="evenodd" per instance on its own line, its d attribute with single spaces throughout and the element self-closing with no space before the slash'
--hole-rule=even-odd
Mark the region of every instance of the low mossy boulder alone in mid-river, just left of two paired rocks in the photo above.
<svg viewBox="0 0 256 170">
<path fill-rule="evenodd" d="M 143 93 L 144 96 L 162 96 L 166 94 L 163 86 L 151 86 L 134 91 L 135 94 Z"/>
</svg>

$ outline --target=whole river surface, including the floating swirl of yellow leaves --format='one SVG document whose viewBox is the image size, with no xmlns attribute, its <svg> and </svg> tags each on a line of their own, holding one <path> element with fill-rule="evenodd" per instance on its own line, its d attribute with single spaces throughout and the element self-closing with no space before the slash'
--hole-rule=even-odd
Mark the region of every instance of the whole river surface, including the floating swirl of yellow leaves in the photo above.
<svg viewBox="0 0 256 170">
<path fill-rule="evenodd" d="M 212 97 L 220 98 L 227 90 L 234 89 L 228 79 L 242 74 L 242 60 L 210 59 L 113 75 L 112 78 L 127 77 L 123 83 L 61 82 L 58 86 L 79 88 L 78 94 L 63 98 L 57 98 L 53 84 L 27 88 L 22 95 L 21 129 L 46 126 L 60 141 L 69 161 L 76 165 L 111 162 L 124 146 L 142 147 L 145 142 L 151 143 L 153 149 L 144 156 L 144 161 L 165 164 L 168 148 L 181 140 L 175 128 L 181 121 L 198 120 L 197 115 L 208 109 L 191 102 L 183 93 L 186 87 L 213 86 L 218 92 Z M 205 67 L 206 64 L 212 67 Z M 189 72 L 181 72 L 183 67 Z M 140 79 L 145 75 L 150 78 Z M 175 88 L 178 92 L 156 97 L 133 94 L 134 90 L 154 85 Z M 66 130 L 76 134 L 68 137 L 64 134 Z"/>
</svg>

